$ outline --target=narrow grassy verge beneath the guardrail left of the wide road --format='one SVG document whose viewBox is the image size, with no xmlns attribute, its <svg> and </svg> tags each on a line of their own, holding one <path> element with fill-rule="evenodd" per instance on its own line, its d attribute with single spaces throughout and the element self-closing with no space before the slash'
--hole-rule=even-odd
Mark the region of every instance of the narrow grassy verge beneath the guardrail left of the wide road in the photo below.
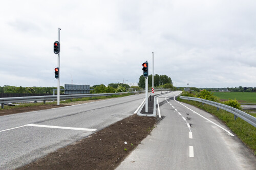
<svg viewBox="0 0 256 170">
<path fill-rule="evenodd" d="M 99 99 L 110 99 L 110 98 L 121 98 L 124 96 L 133 95 L 131 93 L 126 94 L 120 94 L 120 95 L 110 95 L 110 96 L 98 96 L 98 97 L 92 97 L 92 98 L 79 98 L 79 99 L 72 99 L 71 100 L 63 100 L 60 101 L 60 104 L 70 103 L 70 102 L 77 102 L 77 101 L 90 101 L 90 100 L 99 100 Z M 0 110 L 7 110 L 7 109 L 13 109 L 18 107 L 33 107 L 33 106 L 40 106 L 40 105 L 56 105 L 57 102 L 46 102 L 44 103 L 25 103 L 25 104 L 18 104 L 15 106 L 5 106 L 4 109 L 0 108 Z"/>
</svg>

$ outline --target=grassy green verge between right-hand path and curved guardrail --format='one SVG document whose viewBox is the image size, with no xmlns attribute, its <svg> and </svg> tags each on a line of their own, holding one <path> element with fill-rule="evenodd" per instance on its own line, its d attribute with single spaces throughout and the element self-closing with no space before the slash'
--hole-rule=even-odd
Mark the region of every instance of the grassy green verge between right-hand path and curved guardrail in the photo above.
<svg viewBox="0 0 256 170">
<path fill-rule="evenodd" d="M 256 128 L 254 126 L 248 124 L 239 117 L 237 118 L 237 120 L 234 120 L 234 115 L 232 113 L 229 113 L 222 109 L 218 111 L 217 108 L 214 106 L 206 104 L 202 105 L 200 102 L 182 100 L 180 98 L 178 98 L 178 100 L 201 108 L 207 111 L 208 113 L 211 113 L 218 117 L 231 129 L 231 131 L 233 131 L 233 133 L 235 133 L 242 140 L 242 142 L 244 142 L 247 145 L 247 147 L 252 149 L 254 151 L 254 155 L 256 155 Z M 249 114 L 256 117 L 256 114 Z"/>
</svg>

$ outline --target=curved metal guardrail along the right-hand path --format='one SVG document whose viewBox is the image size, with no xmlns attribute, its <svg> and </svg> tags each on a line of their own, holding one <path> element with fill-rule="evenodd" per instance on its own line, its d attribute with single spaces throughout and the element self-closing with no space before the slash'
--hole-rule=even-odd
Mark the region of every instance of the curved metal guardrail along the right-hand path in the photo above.
<svg viewBox="0 0 256 170">
<path fill-rule="evenodd" d="M 224 104 L 217 103 L 217 102 L 207 101 L 207 100 L 200 99 L 200 98 L 187 97 L 187 96 L 180 96 L 180 99 L 190 100 L 190 101 L 197 101 L 197 102 L 205 103 L 207 105 L 215 106 L 217 108 L 226 110 L 226 111 L 228 111 L 228 112 L 230 112 L 234 115 L 234 119 L 236 119 L 237 117 L 240 117 L 243 120 L 245 120 L 247 123 L 256 127 L 256 117 L 253 117 L 253 116 L 251 116 L 251 115 L 249 115 L 249 114 L 247 114 L 247 113 L 245 113 L 245 112 L 243 112 L 239 109 L 233 108 L 231 106 L 224 105 Z"/>
</svg>

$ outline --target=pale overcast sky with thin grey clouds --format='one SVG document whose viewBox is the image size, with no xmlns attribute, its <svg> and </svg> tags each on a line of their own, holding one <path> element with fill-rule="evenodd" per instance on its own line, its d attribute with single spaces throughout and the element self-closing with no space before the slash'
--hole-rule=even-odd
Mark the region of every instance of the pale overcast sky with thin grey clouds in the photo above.
<svg viewBox="0 0 256 170">
<path fill-rule="evenodd" d="M 138 82 L 256 87 L 256 1 L 2 1 L 0 86 Z"/>
</svg>

